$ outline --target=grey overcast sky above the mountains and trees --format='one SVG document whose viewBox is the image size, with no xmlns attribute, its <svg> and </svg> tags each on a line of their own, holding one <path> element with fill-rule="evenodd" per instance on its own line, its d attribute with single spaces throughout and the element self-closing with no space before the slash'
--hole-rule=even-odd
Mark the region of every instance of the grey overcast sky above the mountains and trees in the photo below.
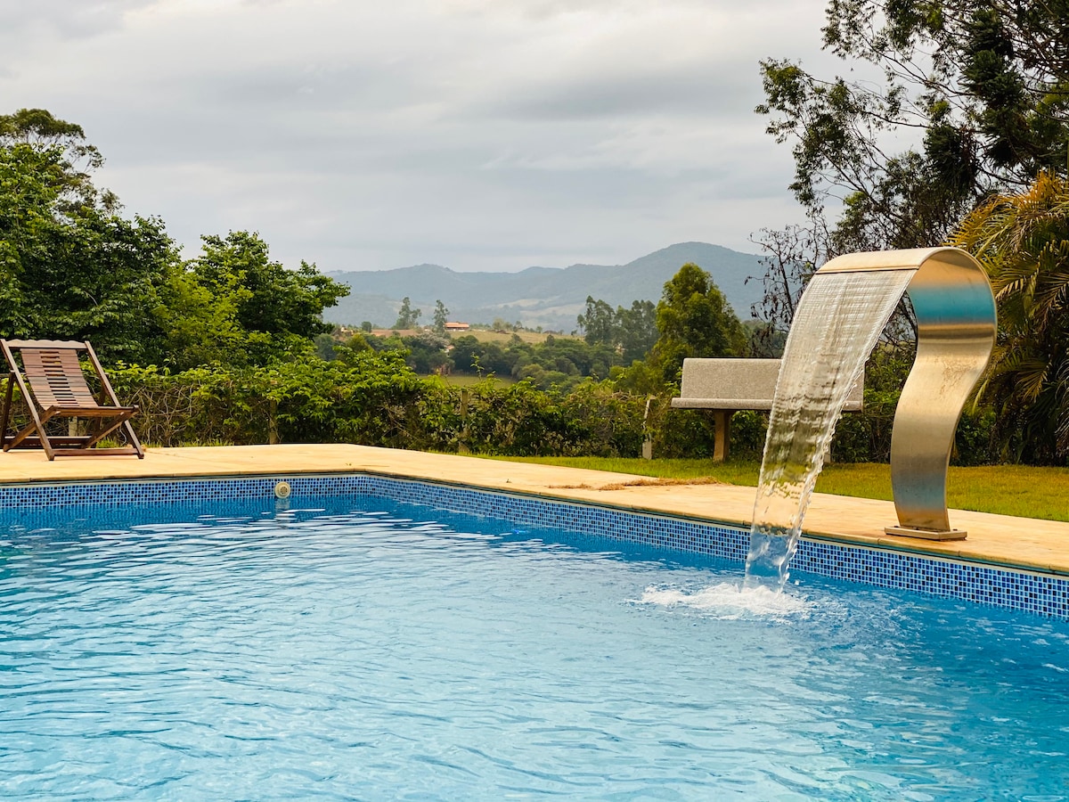
<svg viewBox="0 0 1069 802">
<path fill-rule="evenodd" d="M 127 214 L 288 266 L 756 252 L 800 218 L 758 60 L 823 0 L 0 0 L 0 113 L 82 125 Z"/>
</svg>

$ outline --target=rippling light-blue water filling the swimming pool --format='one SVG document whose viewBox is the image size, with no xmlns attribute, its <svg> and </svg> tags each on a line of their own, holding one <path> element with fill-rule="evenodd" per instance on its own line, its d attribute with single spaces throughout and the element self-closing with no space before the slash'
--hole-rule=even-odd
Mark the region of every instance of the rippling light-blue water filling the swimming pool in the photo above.
<svg viewBox="0 0 1069 802">
<path fill-rule="evenodd" d="M 0 527 L 0 797 L 1069 799 L 1065 622 L 293 505 Z"/>
</svg>

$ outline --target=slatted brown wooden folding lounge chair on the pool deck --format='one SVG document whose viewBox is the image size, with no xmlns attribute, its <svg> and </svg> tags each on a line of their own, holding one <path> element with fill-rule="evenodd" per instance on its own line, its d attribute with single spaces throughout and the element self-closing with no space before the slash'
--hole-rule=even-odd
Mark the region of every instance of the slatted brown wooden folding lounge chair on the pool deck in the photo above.
<svg viewBox="0 0 1069 802">
<path fill-rule="evenodd" d="M 137 454 L 144 459 L 144 449 L 134 434 L 129 419 L 137 406 L 121 406 L 100 360 L 89 342 L 66 340 L 2 340 L 0 349 L 11 368 L 7 391 L 4 394 L 0 433 L 3 450 L 12 448 L 43 448 L 49 460 L 56 457 L 78 454 Z M 86 382 L 79 352 L 89 356 L 100 385 L 99 401 Z M 12 420 L 12 401 L 15 385 L 29 410 L 30 422 L 15 433 L 7 431 Z M 69 430 L 49 434 L 49 421 L 88 418 L 92 421 L 89 434 L 75 434 Z M 53 427 L 55 429 L 55 427 Z M 119 448 L 93 448 L 104 437 L 121 431 L 126 445 Z"/>
</svg>

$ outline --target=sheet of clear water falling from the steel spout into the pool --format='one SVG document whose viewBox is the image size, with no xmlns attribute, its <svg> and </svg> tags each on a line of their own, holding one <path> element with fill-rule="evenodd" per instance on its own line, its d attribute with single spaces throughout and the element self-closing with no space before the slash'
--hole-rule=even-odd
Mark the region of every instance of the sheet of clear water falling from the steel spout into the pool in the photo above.
<svg viewBox="0 0 1069 802">
<path fill-rule="evenodd" d="M 850 389 L 916 271 L 818 273 L 794 314 L 754 503 L 748 587 L 783 588 Z"/>
</svg>

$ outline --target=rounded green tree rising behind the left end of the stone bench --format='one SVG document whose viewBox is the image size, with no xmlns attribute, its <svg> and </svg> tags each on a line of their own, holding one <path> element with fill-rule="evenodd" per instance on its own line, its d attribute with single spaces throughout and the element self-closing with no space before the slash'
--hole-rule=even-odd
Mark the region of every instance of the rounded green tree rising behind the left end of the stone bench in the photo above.
<svg viewBox="0 0 1069 802">
<path fill-rule="evenodd" d="M 650 354 L 665 384 L 678 384 L 685 357 L 744 356 L 746 333 L 708 273 L 687 262 L 665 282 L 656 308 L 660 338 Z"/>
</svg>

